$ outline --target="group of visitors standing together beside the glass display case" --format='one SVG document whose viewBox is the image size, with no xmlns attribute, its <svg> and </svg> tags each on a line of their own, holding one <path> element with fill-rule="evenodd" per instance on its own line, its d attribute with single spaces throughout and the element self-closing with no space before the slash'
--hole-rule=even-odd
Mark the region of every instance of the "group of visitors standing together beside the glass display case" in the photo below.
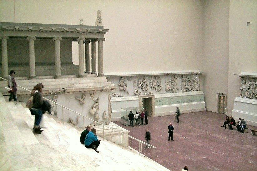
<svg viewBox="0 0 257 171">
<path fill-rule="evenodd" d="M 145 125 L 148 125 L 148 112 L 145 109 L 145 112 L 141 110 L 140 112 L 136 111 L 136 114 L 132 113 L 132 110 L 130 110 L 130 113 L 128 114 L 128 120 L 130 122 L 130 127 L 138 126 L 140 125 L 140 120 L 141 120 L 141 125 L 144 125 L 144 120 L 145 120 Z M 136 123 L 134 125 L 134 119 L 136 120 Z"/>
</svg>

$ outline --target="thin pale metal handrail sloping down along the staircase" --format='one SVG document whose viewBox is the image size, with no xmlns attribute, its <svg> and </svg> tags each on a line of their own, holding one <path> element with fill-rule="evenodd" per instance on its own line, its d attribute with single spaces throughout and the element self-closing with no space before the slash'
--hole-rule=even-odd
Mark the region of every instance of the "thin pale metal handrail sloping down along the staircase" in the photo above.
<svg viewBox="0 0 257 171">
<path fill-rule="evenodd" d="M 4 78 L 2 78 L 2 77 L 0 77 L 0 78 L 1 78 L 2 80 L 8 81 L 8 80 L 6 80 L 6 79 L 4 79 Z M 23 88 L 24 90 L 27 90 L 27 91 L 31 92 L 30 90 L 28 90 L 28 89 L 26 89 L 26 88 L 24 88 L 24 87 L 22 87 L 22 86 L 20 86 L 20 85 L 17 85 L 17 86 Z M 42 96 L 42 97 L 43 97 L 43 96 Z M 69 108 L 67 108 L 67 107 L 65 107 L 65 106 L 63 106 L 63 105 L 60 105 L 60 104 L 58 104 L 58 103 L 56 103 L 56 102 L 54 102 L 54 101 L 52 101 L 52 100 L 49 100 L 49 99 L 47 99 L 47 98 L 45 98 L 45 97 L 43 97 L 43 99 L 48 100 L 48 101 L 51 101 L 52 103 L 61 106 L 62 109 L 65 108 L 65 109 L 68 109 L 68 110 L 70 110 L 70 111 L 72 111 L 72 112 L 74 112 L 74 113 L 76 113 L 76 114 L 78 114 L 78 115 L 80 115 L 80 116 L 83 116 L 83 129 L 85 128 L 85 125 L 84 125 L 84 118 L 87 118 L 87 119 L 89 119 L 89 120 L 92 120 L 92 119 L 90 119 L 90 118 L 88 118 L 88 117 L 86 117 L 86 116 L 84 116 L 84 115 L 81 115 L 81 114 L 79 114 L 78 112 L 76 112 L 76 111 L 74 111 L 74 110 L 71 110 L 71 109 L 69 109 Z M 92 121 L 98 123 L 99 125 L 103 125 L 103 124 L 101 124 L 101 123 L 99 123 L 99 122 L 97 122 L 97 121 L 95 121 L 95 120 L 92 120 Z M 64 125 L 64 121 L 63 121 L 63 125 Z M 104 141 L 104 127 L 107 127 L 107 128 L 109 128 L 109 129 L 112 129 L 112 128 L 106 126 L 106 125 L 103 125 L 103 141 Z M 128 138 L 130 138 L 130 150 L 132 150 L 132 147 L 131 147 L 131 139 L 134 139 L 134 140 L 136 140 L 136 141 L 139 142 L 139 155 L 140 155 L 140 143 L 141 143 L 141 154 L 142 154 L 142 144 L 145 144 L 145 145 L 147 145 L 147 146 L 152 147 L 153 149 L 156 149 L 156 147 L 154 147 L 153 145 L 147 144 L 146 142 L 141 141 L 140 139 L 134 138 L 134 137 L 132 137 L 132 136 L 130 136 L 130 135 L 123 134 L 122 132 L 119 132 L 119 131 L 117 131 L 117 130 L 115 130 L 115 129 L 112 129 L 112 130 L 114 130 L 114 131 L 116 131 L 116 132 L 118 132 L 118 133 L 121 134 L 121 148 L 122 148 L 122 149 L 123 149 L 123 137 L 122 137 L 122 135 L 125 135 L 125 136 L 127 136 Z M 149 158 L 149 159 L 150 159 L 150 158 Z M 154 161 L 154 159 L 153 159 L 153 161 Z"/>
</svg>

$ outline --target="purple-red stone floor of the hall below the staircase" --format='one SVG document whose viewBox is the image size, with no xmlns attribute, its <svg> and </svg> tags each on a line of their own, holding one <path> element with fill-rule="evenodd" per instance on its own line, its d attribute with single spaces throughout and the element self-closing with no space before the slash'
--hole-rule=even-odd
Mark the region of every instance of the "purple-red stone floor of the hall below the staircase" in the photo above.
<svg viewBox="0 0 257 171">
<path fill-rule="evenodd" d="M 223 114 L 203 111 L 182 114 L 179 123 L 175 115 L 148 117 L 148 125 L 135 127 L 114 123 L 142 141 L 148 128 L 150 144 L 156 147 L 155 161 L 169 170 L 181 170 L 185 165 L 190 171 L 257 170 L 257 135 L 251 135 L 250 130 L 241 134 L 235 129 L 224 129 L 224 121 Z M 168 141 L 170 122 L 174 126 L 174 141 Z M 132 148 L 138 150 L 138 142 L 132 140 Z M 143 149 L 143 154 L 153 159 L 153 149 Z"/>
</svg>

